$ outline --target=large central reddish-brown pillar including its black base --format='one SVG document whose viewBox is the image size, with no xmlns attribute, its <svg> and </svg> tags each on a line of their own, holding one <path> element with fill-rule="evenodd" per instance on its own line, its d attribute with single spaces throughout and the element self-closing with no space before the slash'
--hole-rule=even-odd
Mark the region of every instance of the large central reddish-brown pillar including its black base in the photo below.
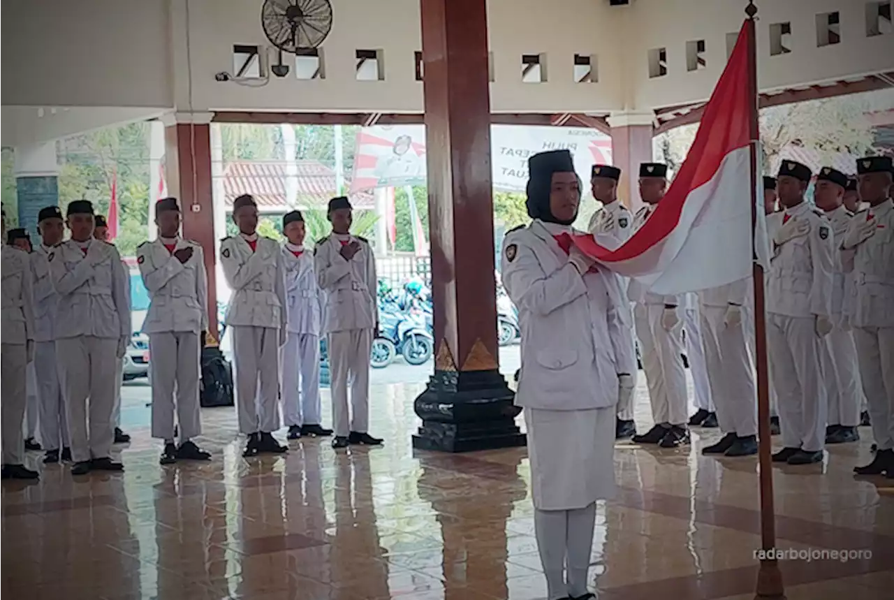
<svg viewBox="0 0 894 600">
<path fill-rule="evenodd" d="M 486 2 L 420 4 L 436 354 L 413 445 L 522 445 L 498 364 Z"/>
</svg>

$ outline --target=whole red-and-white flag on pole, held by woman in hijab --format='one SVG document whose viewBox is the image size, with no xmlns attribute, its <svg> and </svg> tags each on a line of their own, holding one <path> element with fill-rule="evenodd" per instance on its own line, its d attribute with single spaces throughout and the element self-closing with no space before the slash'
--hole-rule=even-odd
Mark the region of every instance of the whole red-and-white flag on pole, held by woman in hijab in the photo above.
<svg viewBox="0 0 894 600">
<path fill-rule="evenodd" d="M 615 250 L 592 235 L 575 237 L 588 256 L 651 292 L 698 292 L 738 282 L 752 275 L 755 249 L 759 262 L 770 262 L 763 199 L 752 181 L 752 145 L 758 140 L 750 133 L 757 110 L 748 85 L 755 65 L 750 27 L 746 21 L 687 159 L 653 215 Z"/>
</svg>

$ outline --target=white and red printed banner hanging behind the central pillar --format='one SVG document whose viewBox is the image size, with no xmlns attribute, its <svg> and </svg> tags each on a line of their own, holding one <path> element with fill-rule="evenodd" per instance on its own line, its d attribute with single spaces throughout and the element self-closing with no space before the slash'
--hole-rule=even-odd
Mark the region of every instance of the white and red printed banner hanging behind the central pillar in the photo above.
<svg viewBox="0 0 894 600">
<path fill-rule="evenodd" d="M 585 189 L 592 165 L 611 165 L 611 138 L 595 129 L 493 125 L 491 148 L 493 189 L 500 191 L 524 191 L 527 158 L 544 150 L 568 148 Z M 425 182 L 424 125 L 376 125 L 359 131 L 351 192 Z"/>
</svg>

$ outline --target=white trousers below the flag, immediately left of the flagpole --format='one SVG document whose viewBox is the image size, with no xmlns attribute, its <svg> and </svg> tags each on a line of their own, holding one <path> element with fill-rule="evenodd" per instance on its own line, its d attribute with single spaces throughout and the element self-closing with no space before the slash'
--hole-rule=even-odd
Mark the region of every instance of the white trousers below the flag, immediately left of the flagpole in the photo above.
<svg viewBox="0 0 894 600">
<path fill-rule="evenodd" d="M 701 311 L 704 358 L 717 421 L 724 434 L 757 435 L 755 364 L 746 340 L 747 334 L 754 333 L 752 317 L 743 311 L 742 323 L 727 327 L 726 312 L 725 307 Z"/>
</svg>

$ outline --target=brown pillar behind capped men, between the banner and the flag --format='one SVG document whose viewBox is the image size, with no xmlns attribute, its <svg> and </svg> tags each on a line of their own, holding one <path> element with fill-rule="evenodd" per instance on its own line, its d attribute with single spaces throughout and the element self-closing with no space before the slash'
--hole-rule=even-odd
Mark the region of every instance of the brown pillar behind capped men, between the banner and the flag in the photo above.
<svg viewBox="0 0 894 600">
<path fill-rule="evenodd" d="M 618 183 L 618 199 L 633 212 L 643 206 L 639 197 L 639 165 L 651 163 L 654 115 L 652 113 L 612 114 L 611 161 L 624 173 Z"/>
</svg>

